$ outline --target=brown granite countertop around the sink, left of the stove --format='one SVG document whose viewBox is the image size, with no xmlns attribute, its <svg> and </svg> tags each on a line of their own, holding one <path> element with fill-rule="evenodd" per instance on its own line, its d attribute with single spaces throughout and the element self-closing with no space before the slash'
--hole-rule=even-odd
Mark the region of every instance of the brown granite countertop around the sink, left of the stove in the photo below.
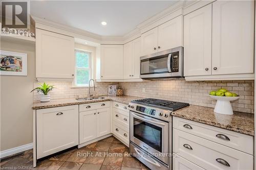
<svg viewBox="0 0 256 170">
<path fill-rule="evenodd" d="M 122 96 L 102 95 L 102 96 L 104 97 L 104 99 L 95 99 L 90 101 L 77 101 L 74 98 L 70 98 L 70 99 L 51 100 L 50 102 L 34 102 L 32 109 L 46 109 L 46 108 L 52 108 L 52 107 L 80 105 L 80 104 L 104 102 L 104 101 L 115 101 L 123 104 L 129 104 L 129 102 L 133 100 L 142 99 L 142 98 L 129 96 L 129 95 L 122 95 Z"/>
</svg>

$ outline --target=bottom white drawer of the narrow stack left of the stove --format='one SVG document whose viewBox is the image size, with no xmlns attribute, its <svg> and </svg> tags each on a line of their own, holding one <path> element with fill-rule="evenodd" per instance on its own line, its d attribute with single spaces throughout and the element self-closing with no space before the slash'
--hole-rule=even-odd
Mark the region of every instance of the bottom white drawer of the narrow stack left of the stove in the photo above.
<svg viewBox="0 0 256 170">
<path fill-rule="evenodd" d="M 113 133 L 125 143 L 129 144 L 129 129 L 123 127 L 122 125 L 113 122 Z"/>
</svg>

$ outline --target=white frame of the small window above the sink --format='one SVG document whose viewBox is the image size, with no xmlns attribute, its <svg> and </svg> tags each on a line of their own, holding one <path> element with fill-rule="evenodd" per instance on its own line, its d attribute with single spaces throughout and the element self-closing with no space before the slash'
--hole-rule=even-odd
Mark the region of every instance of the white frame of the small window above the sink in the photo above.
<svg viewBox="0 0 256 170">
<path fill-rule="evenodd" d="M 89 65 L 88 65 L 88 68 L 83 68 L 83 67 L 77 67 L 76 66 L 76 53 L 77 52 L 80 52 L 80 53 L 87 53 L 89 55 Z M 89 87 L 89 84 L 84 84 L 84 85 L 77 85 L 77 69 L 80 69 L 80 70 L 89 70 L 89 80 L 92 79 L 92 53 L 89 52 L 89 51 L 85 51 L 85 50 L 78 50 L 78 49 L 75 49 L 75 78 L 74 78 L 74 82 L 73 82 L 73 86 L 74 87 Z"/>
</svg>

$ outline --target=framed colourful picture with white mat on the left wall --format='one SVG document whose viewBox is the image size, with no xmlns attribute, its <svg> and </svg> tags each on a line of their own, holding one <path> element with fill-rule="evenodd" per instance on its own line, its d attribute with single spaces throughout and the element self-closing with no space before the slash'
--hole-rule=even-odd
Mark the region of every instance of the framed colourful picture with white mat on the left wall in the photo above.
<svg viewBox="0 0 256 170">
<path fill-rule="evenodd" d="M 0 75 L 27 76 L 27 54 L 0 51 Z"/>
</svg>

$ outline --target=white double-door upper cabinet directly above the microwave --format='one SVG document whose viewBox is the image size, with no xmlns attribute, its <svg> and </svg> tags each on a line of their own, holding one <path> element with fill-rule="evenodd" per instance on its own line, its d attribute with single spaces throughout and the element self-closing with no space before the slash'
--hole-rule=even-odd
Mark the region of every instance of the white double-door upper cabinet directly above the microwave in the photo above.
<svg viewBox="0 0 256 170">
<path fill-rule="evenodd" d="M 161 52 L 177 46 L 183 46 L 182 15 L 141 34 L 142 56 Z"/>
</svg>

